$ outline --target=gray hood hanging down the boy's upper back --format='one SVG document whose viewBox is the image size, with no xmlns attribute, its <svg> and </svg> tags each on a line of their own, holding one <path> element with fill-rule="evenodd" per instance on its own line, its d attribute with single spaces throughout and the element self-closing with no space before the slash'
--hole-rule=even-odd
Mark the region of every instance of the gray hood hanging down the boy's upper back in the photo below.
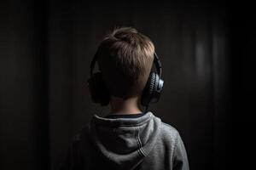
<svg viewBox="0 0 256 170">
<path fill-rule="evenodd" d="M 137 118 L 94 115 L 90 122 L 93 143 L 114 167 L 134 169 L 148 156 L 160 135 L 159 117 L 148 111 Z"/>
</svg>

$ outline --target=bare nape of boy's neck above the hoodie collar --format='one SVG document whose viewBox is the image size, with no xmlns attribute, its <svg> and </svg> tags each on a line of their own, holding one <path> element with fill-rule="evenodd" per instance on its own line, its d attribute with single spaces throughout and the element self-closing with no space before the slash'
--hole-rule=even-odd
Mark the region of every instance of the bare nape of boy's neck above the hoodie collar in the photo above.
<svg viewBox="0 0 256 170">
<path fill-rule="evenodd" d="M 139 98 L 121 99 L 111 96 L 109 114 L 137 114 L 143 111 L 139 108 Z"/>
</svg>

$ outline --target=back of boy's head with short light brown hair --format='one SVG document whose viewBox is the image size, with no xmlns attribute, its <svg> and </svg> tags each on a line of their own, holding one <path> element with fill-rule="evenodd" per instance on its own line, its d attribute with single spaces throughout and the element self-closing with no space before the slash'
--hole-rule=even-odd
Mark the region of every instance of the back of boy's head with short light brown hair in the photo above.
<svg viewBox="0 0 256 170">
<path fill-rule="evenodd" d="M 105 37 L 96 55 L 109 94 L 128 99 L 140 96 L 154 62 L 154 44 L 131 27 L 121 27 Z"/>
</svg>

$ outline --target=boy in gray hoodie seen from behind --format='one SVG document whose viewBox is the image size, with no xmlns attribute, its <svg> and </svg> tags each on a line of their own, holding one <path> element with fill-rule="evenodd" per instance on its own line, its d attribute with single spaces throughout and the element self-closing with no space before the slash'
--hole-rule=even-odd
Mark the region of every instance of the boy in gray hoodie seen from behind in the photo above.
<svg viewBox="0 0 256 170">
<path fill-rule="evenodd" d="M 153 42 L 134 28 L 121 27 L 103 39 L 96 59 L 100 88 L 90 94 L 111 110 L 108 116 L 94 115 L 75 136 L 61 169 L 189 170 L 177 130 L 140 109 L 154 63 Z M 89 79 L 90 88 L 94 83 Z"/>
</svg>

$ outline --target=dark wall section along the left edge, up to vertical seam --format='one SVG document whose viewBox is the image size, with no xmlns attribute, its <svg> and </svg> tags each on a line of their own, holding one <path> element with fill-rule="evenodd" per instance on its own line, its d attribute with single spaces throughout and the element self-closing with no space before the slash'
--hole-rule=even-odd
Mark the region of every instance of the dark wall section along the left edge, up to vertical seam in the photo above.
<svg viewBox="0 0 256 170">
<path fill-rule="evenodd" d="M 0 6 L 0 169 L 47 169 L 45 8 L 32 1 L 1 2 Z"/>
</svg>

